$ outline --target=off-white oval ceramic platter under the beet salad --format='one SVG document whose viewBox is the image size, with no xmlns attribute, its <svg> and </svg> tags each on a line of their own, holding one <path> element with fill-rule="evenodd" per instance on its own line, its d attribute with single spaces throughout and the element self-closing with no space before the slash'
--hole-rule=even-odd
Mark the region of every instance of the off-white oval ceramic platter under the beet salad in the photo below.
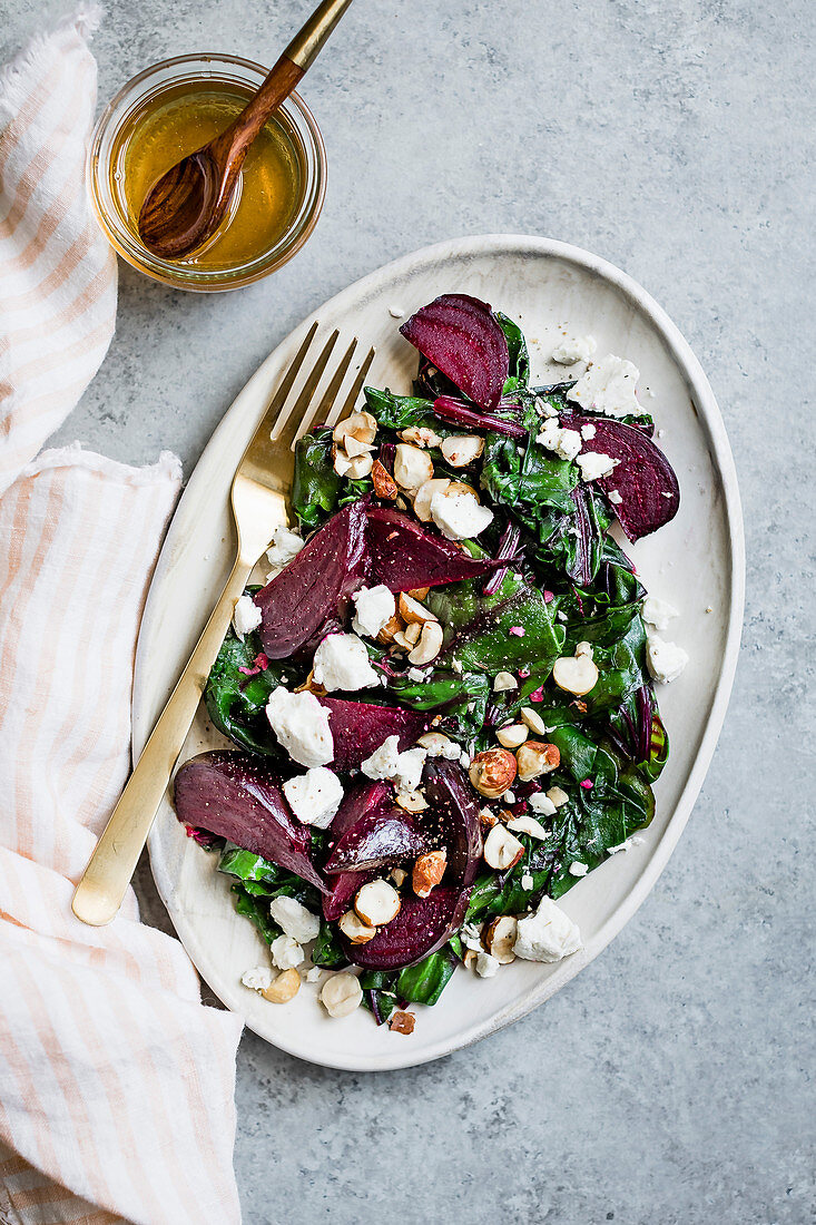
<svg viewBox="0 0 816 1225">
<path fill-rule="evenodd" d="M 678 328 L 633 281 L 586 251 L 540 238 L 486 235 L 415 251 L 350 285 L 283 341 L 250 380 L 192 473 L 162 551 L 142 621 L 134 688 L 134 752 L 147 734 L 201 631 L 232 565 L 233 472 L 281 371 L 312 318 L 375 344 L 374 386 L 407 392 L 415 352 L 391 311 L 410 314 L 441 293 L 469 293 L 517 318 L 531 342 L 533 382 L 559 375 L 548 364 L 564 327 L 592 332 L 598 352 L 630 358 L 640 396 L 676 469 L 681 505 L 633 557 L 647 587 L 681 616 L 671 637 L 686 646 L 684 675 L 659 693 L 671 757 L 659 779 L 657 816 L 643 840 L 576 884 L 564 909 L 584 948 L 556 965 L 515 962 L 494 979 L 457 971 L 434 1008 L 419 1007 L 410 1038 L 377 1029 L 368 1012 L 331 1020 L 314 987 L 287 1006 L 241 986 L 263 962 L 252 926 L 233 909 L 217 856 L 205 854 L 175 820 L 169 800 L 149 840 L 159 893 L 202 976 L 221 1000 L 276 1046 L 315 1063 L 350 1069 L 407 1067 L 447 1055 L 544 1003 L 631 919 L 674 850 L 702 785 L 728 703 L 744 598 L 744 539 L 736 475 L 723 421 L 702 369 Z M 183 760 L 223 744 L 202 710 Z"/>
</svg>

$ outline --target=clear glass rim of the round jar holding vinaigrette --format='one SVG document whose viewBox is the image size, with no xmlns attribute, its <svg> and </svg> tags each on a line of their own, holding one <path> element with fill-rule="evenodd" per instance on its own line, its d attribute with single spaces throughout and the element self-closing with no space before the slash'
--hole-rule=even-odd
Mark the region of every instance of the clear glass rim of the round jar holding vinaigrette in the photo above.
<svg viewBox="0 0 816 1225">
<path fill-rule="evenodd" d="M 125 223 L 109 184 L 110 152 L 125 121 L 151 97 L 184 81 L 243 85 L 256 88 L 268 70 L 238 55 L 200 51 L 161 60 L 131 77 L 107 104 L 97 120 L 86 158 L 86 183 L 97 221 L 108 241 L 127 263 L 146 276 L 176 289 L 212 293 L 239 289 L 260 281 L 287 263 L 310 236 L 326 196 L 326 148 L 310 108 L 297 91 L 278 108 L 287 135 L 295 145 L 303 189 L 294 216 L 276 241 L 235 267 L 201 268 L 163 260 L 149 251 Z M 238 70 L 238 72 L 236 72 Z M 232 74 L 232 77 L 230 77 Z M 163 80 L 162 80 L 163 78 Z"/>
</svg>

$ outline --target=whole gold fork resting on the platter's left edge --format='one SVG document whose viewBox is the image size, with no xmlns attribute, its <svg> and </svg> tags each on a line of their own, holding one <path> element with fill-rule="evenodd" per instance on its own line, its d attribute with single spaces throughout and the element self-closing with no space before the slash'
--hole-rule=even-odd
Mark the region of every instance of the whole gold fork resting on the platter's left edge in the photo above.
<svg viewBox="0 0 816 1225">
<path fill-rule="evenodd" d="M 125 897 L 210 670 L 229 628 L 235 600 L 246 587 L 255 564 L 268 548 L 276 527 L 288 522 L 287 495 L 294 473 L 295 443 L 310 428 L 336 425 L 353 412 L 374 360 L 375 350 L 369 349 L 348 394 L 341 399 L 341 387 L 358 344 L 355 337 L 337 363 L 322 398 L 312 404 L 317 385 L 339 339 L 339 332 L 332 332 L 300 393 L 287 409 L 289 393 L 316 332 L 317 322 L 312 323 L 283 376 L 238 466 L 232 486 L 232 508 L 238 529 L 235 565 L 76 887 L 74 914 L 96 927 L 110 922 Z"/>
</svg>

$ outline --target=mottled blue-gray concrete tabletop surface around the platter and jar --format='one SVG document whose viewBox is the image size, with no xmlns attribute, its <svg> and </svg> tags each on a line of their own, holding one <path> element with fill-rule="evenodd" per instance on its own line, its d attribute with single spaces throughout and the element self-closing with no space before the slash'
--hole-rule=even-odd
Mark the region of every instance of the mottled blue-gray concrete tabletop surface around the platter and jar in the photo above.
<svg viewBox="0 0 816 1225">
<path fill-rule="evenodd" d="M 2 7 L 5 59 L 47 10 Z M 271 62 L 306 4 L 107 7 L 102 98 L 189 50 Z M 190 472 L 277 341 L 386 260 L 495 230 L 589 247 L 696 349 L 745 505 L 736 687 L 649 900 L 544 1009 L 440 1063 L 348 1076 L 247 1035 L 250 1225 L 812 1220 L 815 17 L 809 0 L 358 0 L 303 89 L 331 173 L 301 255 L 211 298 L 123 267 L 110 354 L 59 437 L 131 462 L 173 447 Z"/>
</svg>

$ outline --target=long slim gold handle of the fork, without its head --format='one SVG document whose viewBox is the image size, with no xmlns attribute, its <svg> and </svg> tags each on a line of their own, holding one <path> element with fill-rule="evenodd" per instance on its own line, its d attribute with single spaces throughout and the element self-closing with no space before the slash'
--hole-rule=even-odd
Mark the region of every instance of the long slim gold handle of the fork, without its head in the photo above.
<svg viewBox="0 0 816 1225">
<path fill-rule="evenodd" d="M 235 600 L 252 570 L 239 556 L 170 695 L 119 804 L 97 843 L 74 894 L 82 922 L 100 927 L 116 915 L 167 791 L 207 677 L 233 617 Z"/>
</svg>

